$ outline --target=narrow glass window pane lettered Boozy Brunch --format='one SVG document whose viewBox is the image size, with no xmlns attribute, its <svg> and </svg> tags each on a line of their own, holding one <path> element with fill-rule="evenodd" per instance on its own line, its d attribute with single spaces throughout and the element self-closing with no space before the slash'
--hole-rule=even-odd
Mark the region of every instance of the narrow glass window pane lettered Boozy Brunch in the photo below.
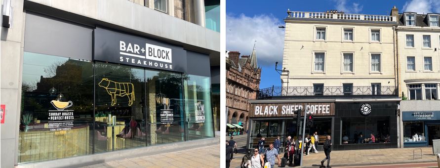
<svg viewBox="0 0 440 168">
<path fill-rule="evenodd" d="M 188 140 L 213 136 L 210 85 L 209 77 L 195 75 L 184 77 Z"/>
</svg>

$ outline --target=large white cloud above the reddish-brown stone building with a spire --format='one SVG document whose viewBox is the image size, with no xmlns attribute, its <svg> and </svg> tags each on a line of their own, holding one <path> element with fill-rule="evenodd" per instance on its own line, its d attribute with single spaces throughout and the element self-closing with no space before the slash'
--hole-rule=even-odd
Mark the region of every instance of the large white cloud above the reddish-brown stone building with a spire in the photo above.
<svg viewBox="0 0 440 168">
<path fill-rule="evenodd" d="M 274 65 L 282 61 L 284 46 L 284 25 L 273 15 L 245 16 L 240 14 L 226 15 L 226 50 L 239 51 L 250 55 L 254 41 L 257 41 L 257 58 L 259 66 Z"/>
</svg>

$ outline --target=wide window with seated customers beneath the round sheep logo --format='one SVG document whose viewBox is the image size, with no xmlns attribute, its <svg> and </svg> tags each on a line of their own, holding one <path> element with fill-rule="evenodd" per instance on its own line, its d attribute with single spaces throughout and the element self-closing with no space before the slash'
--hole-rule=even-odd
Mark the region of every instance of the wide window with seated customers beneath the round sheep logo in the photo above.
<svg viewBox="0 0 440 168">
<path fill-rule="evenodd" d="M 390 142 L 390 118 L 342 118 L 340 144 Z"/>
</svg>

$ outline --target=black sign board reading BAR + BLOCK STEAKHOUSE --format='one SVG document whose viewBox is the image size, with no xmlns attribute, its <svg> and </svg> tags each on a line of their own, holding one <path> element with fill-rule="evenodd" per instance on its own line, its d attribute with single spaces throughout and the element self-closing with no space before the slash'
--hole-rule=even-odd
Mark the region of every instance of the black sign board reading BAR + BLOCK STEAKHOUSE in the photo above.
<svg viewBox="0 0 440 168">
<path fill-rule="evenodd" d="M 180 46 L 103 28 L 94 30 L 94 60 L 186 72 L 186 58 Z"/>
</svg>

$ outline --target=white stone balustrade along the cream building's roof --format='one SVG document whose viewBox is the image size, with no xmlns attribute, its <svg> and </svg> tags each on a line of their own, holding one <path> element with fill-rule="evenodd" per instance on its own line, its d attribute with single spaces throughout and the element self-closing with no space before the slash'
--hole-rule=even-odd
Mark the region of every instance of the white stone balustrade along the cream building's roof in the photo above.
<svg viewBox="0 0 440 168">
<path fill-rule="evenodd" d="M 327 13 L 327 12 L 298 12 L 298 11 L 287 11 L 287 14 L 289 18 L 320 18 L 320 19 L 397 22 L 396 16 L 387 16 L 387 15 L 365 15 L 365 14 Z"/>
</svg>

